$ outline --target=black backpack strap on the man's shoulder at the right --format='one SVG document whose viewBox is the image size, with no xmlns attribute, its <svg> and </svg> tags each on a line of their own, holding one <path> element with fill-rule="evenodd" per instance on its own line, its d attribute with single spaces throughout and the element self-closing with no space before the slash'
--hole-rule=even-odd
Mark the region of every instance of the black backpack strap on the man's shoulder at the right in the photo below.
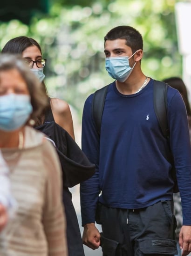
<svg viewBox="0 0 191 256">
<path fill-rule="evenodd" d="M 168 85 L 164 82 L 154 80 L 153 101 L 155 113 L 165 138 L 169 137 L 167 120 L 167 89 Z"/>
</svg>

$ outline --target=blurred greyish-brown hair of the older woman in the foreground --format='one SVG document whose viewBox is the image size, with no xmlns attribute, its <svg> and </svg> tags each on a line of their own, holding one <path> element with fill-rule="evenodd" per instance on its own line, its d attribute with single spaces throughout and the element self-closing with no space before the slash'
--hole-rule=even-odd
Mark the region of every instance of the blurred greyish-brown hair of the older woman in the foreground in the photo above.
<svg viewBox="0 0 191 256">
<path fill-rule="evenodd" d="M 30 118 L 36 120 L 48 105 L 48 96 L 44 93 L 38 78 L 30 71 L 25 61 L 19 55 L 0 53 L 0 73 L 12 69 L 16 69 L 26 82 L 33 107 Z"/>
</svg>

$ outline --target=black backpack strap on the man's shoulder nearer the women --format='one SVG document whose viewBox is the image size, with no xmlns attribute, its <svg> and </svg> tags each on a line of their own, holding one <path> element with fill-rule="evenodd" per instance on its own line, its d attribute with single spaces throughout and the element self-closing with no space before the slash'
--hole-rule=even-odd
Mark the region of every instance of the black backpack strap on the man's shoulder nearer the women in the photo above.
<svg viewBox="0 0 191 256">
<path fill-rule="evenodd" d="M 101 122 L 102 122 L 102 113 L 105 105 L 105 97 L 108 91 L 109 85 L 97 90 L 94 93 L 92 100 L 92 117 L 96 124 L 96 130 L 100 134 Z"/>
</svg>

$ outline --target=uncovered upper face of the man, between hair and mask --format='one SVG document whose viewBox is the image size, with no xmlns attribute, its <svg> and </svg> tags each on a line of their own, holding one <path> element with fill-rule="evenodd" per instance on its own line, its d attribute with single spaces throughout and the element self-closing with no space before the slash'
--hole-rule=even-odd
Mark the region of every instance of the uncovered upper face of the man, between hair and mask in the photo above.
<svg viewBox="0 0 191 256">
<path fill-rule="evenodd" d="M 127 46 L 125 39 L 106 40 L 105 42 L 105 57 L 130 57 L 134 52 Z"/>
</svg>

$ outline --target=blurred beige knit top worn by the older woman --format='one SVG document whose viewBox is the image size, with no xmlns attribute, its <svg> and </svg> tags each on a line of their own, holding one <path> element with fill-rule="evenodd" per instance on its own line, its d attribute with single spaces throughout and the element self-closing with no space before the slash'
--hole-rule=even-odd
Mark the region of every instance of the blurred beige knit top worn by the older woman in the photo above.
<svg viewBox="0 0 191 256">
<path fill-rule="evenodd" d="M 23 149 L 2 148 L 17 208 L 0 233 L 0 256 L 68 255 L 60 163 L 43 136 L 27 126 Z"/>
</svg>

